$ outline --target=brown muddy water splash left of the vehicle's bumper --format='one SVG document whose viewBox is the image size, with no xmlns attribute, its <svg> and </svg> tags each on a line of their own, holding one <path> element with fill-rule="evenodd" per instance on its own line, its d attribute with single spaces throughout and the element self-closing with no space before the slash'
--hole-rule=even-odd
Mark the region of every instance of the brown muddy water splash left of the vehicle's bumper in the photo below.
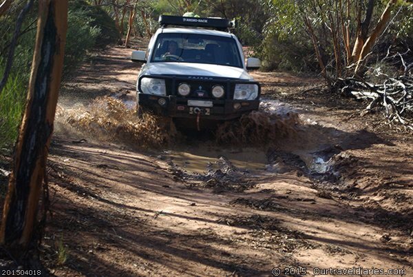
<svg viewBox="0 0 413 277">
<path fill-rule="evenodd" d="M 87 110 L 60 107 L 57 116 L 59 122 L 93 139 L 120 141 L 135 147 L 162 147 L 176 134 L 173 123 L 151 114 L 138 118 L 125 103 L 109 96 L 95 99 Z"/>
</svg>

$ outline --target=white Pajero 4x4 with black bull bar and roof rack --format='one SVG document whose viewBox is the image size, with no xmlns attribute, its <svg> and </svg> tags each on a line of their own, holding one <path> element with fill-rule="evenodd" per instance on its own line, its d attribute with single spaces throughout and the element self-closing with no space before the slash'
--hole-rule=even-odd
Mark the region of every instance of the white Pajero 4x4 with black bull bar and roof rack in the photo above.
<svg viewBox="0 0 413 277">
<path fill-rule="evenodd" d="M 229 120 L 260 105 L 260 84 L 246 70 L 242 45 L 226 32 L 227 19 L 161 15 L 161 28 L 147 51 L 132 52 L 142 66 L 137 83 L 138 111 L 173 118 Z M 171 26 L 179 26 L 171 27 Z"/>
</svg>

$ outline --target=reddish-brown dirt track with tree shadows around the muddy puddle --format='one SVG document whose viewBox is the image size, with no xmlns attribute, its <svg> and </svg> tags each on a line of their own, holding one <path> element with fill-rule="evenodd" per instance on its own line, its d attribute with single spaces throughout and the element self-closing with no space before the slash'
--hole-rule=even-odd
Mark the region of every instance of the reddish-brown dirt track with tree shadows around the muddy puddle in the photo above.
<svg viewBox="0 0 413 277">
<path fill-rule="evenodd" d="M 138 67 L 130 52 L 109 48 L 85 64 L 64 86 L 61 107 L 87 107 L 103 95 L 133 101 Z M 195 136 L 136 150 L 57 125 L 42 249 L 52 272 L 271 276 L 273 267 L 306 267 L 313 276 L 315 267 L 354 266 L 412 276 L 411 134 L 354 115 L 362 107 L 354 101 L 306 91 L 317 79 L 254 76 L 275 112 L 297 112 L 302 122 L 272 150 Z"/>
</svg>

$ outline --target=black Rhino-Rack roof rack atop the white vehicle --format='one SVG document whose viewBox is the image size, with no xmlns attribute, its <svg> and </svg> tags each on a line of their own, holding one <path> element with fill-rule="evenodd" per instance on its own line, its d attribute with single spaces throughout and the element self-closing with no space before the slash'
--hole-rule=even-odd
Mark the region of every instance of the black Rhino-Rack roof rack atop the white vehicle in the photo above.
<svg viewBox="0 0 413 277">
<path fill-rule="evenodd" d="M 228 19 L 211 18 L 211 17 L 176 17 L 173 15 L 162 14 L 159 17 L 159 24 L 162 27 L 167 27 L 168 25 L 178 25 L 178 26 L 192 26 L 192 27 L 203 27 L 203 28 L 213 28 L 215 30 L 228 30 L 234 27 L 234 23 Z"/>
</svg>

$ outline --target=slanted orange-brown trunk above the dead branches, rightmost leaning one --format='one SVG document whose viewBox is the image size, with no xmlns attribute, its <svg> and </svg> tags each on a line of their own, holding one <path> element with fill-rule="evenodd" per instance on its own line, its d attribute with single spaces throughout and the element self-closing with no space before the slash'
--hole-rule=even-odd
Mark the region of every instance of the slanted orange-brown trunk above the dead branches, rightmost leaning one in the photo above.
<svg viewBox="0 0 413 277">
<path fill-rule="evenodd" d="M 376 43 L 377 37 L 381 35 L 385 26 L 387 25 L 388 21 L 390 20 L 390 13 L 392 11 L 393 6 L 397 3 L 397 0 L 390 0 L 388 5 L 385 7 L 385 10 L 381 14 L 379 22 L 376 25 L 376 28 L 372 30 L 370 37 L 364 43 L 363 48 L 361 49 L 359 59 L 357 60 L 357 66 L 354 72 L 357 74 L 361 70 L 361 64 L 363 63 L 363 59 L 366 58 L 367 54 L 372 50 L 374 43 Z"/>
</svg>

